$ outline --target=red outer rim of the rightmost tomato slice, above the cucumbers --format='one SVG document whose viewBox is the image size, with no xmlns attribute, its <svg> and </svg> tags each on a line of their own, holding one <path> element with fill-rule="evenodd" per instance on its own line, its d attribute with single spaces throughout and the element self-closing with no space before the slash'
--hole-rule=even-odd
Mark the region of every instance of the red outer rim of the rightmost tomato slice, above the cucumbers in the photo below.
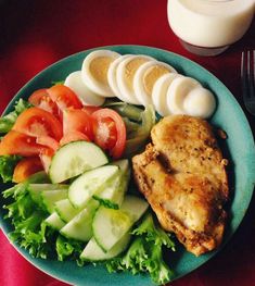
<svg viewBox="0 0 255 286">
<path fill-rule="evenodd" d="M 94 137 L 98 137 L 97 140 L 99 145 L 101 144 L 100 136 L 97 136 L 97 134 L 100 134 L 100 122 L 105 122 L 106 119 L 114 122 L 116 128 L 116 141 L 111 148 L 110 154 L 114 159 L 120 158 L 126 147 L 126 126 L 122 116 L 112 109 L 100 109 L 92 113 L 92 117 L 95 121 Z M 105 140 L 104 138 L 102 139 Z"/>
</svg>

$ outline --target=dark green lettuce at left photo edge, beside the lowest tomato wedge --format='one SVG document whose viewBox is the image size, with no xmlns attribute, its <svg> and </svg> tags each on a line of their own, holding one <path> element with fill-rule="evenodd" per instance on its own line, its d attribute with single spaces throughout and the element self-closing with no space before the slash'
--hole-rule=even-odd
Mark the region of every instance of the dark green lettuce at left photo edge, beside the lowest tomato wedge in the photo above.
<svg viewBox="0 0 255 286">
<path fill-rule="evenodd" d="M 20 156 L 0 156 L 0 176 L 3 183 L 12 182 L 14 167 L 22 159 Z"/>
</svg>

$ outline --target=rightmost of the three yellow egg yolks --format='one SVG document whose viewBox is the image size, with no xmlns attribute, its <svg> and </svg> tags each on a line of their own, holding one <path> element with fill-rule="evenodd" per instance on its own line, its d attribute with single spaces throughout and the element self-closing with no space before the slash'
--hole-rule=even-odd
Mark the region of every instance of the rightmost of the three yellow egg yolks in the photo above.
<svg viewBox="0 0 255 286">
<path fill-rule="evenodd" d="M 143 86 L 146 94 L 151 95 L 156 79 L 169 72 L 170 71 L 166 66 L 160 64 L 155 64 L 152 67 L 148 69 L 143 76 Z"/>
</svg>

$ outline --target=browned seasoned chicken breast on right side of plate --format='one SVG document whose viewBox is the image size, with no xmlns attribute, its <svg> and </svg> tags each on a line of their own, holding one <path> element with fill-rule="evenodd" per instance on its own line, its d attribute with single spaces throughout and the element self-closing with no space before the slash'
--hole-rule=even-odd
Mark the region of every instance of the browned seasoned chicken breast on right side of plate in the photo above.
<svg viewBox="0 0 255 286">
<path fill-rule="evenodd" d="M 133 157 L 139 190 L 162 227 L 174 232 L 188 251 L 200 256 L 222 240 L 229 196 L 222 159 L 206 121 L 171 115 L 157 123 L 152 144 Z"/>
</svg>

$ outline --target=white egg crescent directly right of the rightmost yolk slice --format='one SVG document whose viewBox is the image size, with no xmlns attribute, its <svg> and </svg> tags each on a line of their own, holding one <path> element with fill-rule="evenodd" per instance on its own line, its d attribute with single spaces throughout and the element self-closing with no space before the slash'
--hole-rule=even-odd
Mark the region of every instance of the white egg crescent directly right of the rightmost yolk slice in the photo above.
<svg viewBox="0 0 255 286">
<path fill-rule="evenodd" d="M 171 114 L 166 102 L 167 90 L 176 77 L 182 75 L 176 73 L 169 73 L 162 75 L 154 84 L 152 89 L 152 103 L 162 116 Z"/>
</svg>

